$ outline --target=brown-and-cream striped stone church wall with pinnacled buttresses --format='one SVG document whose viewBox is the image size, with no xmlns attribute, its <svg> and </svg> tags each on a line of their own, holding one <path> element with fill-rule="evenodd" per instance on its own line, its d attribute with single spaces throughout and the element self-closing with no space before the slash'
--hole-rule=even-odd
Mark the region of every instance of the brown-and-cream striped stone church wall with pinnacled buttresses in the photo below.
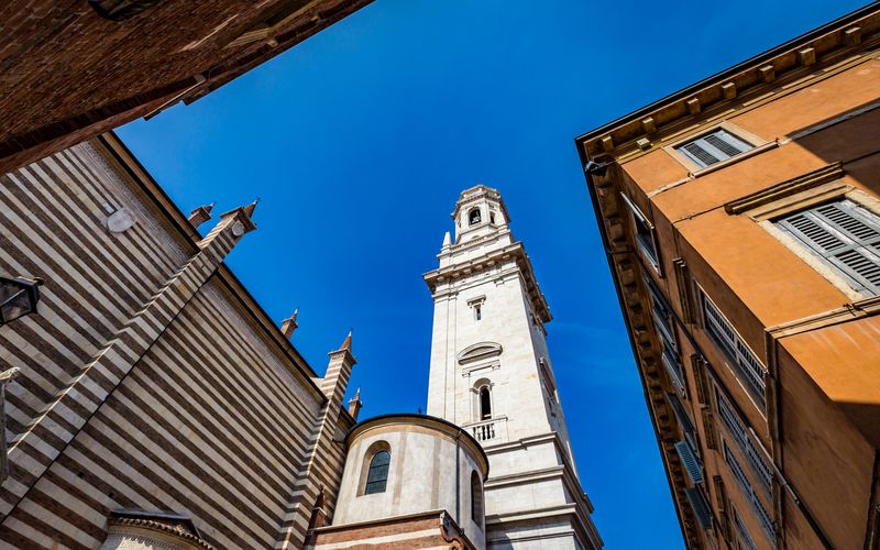
<svg viewBox="0 0 880 550">
<path fill-rule="evenodd" d="M 0 370 L 21 369 L 0 541 L 98 548 L 131 508 L 219 548 L 299 547 L 320 488 L 332 513 L 348 375 L 328 399 L 222 266 L 249 212 L 199 241 L 129 155 L 108 135 L 0 179 L 0 274 L 46 280 L 40 314 L 0 328 Z"/>
</svg>

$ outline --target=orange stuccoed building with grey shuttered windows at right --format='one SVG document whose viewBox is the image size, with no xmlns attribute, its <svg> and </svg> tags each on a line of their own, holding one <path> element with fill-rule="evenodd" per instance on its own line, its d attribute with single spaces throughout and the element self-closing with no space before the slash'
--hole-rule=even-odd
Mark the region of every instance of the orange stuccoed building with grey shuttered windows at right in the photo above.
<svg viewBox="0 0 880 550">
<path fill-rule="evenodd" d="M 880 6 L 576 139 L 690 548 L 878 548 Z"/>
</svg>

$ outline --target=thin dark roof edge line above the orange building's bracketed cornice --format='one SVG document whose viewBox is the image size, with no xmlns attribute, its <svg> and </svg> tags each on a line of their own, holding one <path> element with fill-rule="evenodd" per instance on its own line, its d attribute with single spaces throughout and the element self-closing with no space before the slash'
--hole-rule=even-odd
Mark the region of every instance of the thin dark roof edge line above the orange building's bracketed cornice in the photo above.
<svg viewBox="0 0 880 550">
<path fill-rule="evenodd" d="M 772 58 L 777 57 L 778 55 L 781 55 L 781 54 L 792 50 L 793 47 L 795 47 L 795 46 L 798 46 L 800 44 L 814 41 L 814 40 L 818 38 L 820 36 L 828 34 L 829 32 L 834 31 L 835 29 L 838 29 L 838 28 L 842 28 L 842 26 L 844 26 L 844 25 L 846 25 L 848 23 L 853 23 L 855 21 L 858 21 L 859 19 L 862 19 L 866 15 L 869 15 L 869 14 L 871 14 L 871 13 L 878 11 L 878 10 L 880 10 L 880 0 L 875 0 L 873 2 L 869 3 L 868 6 L 865 6 L 862 8 L 859 8 L 856 11 L 847 13 L 846 15 L 837 18 L 834 21 L 831 21 L 828 23 L 825 23 L 822 26 L 813 29 L 812 31 L 807 31 L 806 33 L 804 33 L 804 34 L 802 34 L 800 36 L 796 36 L 796 37 L 794 37 L 794 38 L 792 38 L 792 40 L 790 40 L 790 41 L 788 41 L 788 42 L 785 42 L 783 44 L 774 46 L 774 47 L 772 47 L 772 48 L 770 48 L 770 50 L 768 50 L 766 52 L 762 52 L 762 53 L 754 56 L 754 57 L 749 57 L 746 61 L 739 62 L 736 65 L 734 65 L 733 67 L 728 67 L 728 68 L 722 70 L 721 73 L 716 73 L 716 74 L 714 74 L 714 75 L 712 75 L 710 77 L 706 77 L 706 78 L 704 78 L 704 79 L 702 79 L 702 80 L 700 80 L 697 82 L 694 82 L 694 84 L 688 86 L 686 88 L 682 88 L 679 91 L 672 92 L 672 94 L 670 94 L 669 96 L 667 96 L 664 98 L 658 99 L 657 101 L 653 101 L 653 102 L 651 102 L 651 103 L 649 103 L 649 105 L 647 105 L 647 106 L 645 106 L 645 107 L 642 107 L 640 109 L 637 109 L 637 110 L 635 110 L 635 111 L 632 111 L 632 112 L 630 112 L 628 114 L 624 114 L 623 117 L 619 117 L 619 118 L 617 118 L 617 119 L 615 119 L 615 120 L 613 120 L 610 122 L 607 122 L 607 123 L 605 123 L 605 124 L 603 124 L 603 125 L 601 125 L 601 127 L 598 127 L 596 129 L 593 129 L 593 130 L 591 130 L 591 131 L 588 131 L 586 133 L 583 133 L 583 134 L 576 136 L 574 139 L 574 141 L 580 144 L 580 143 L 586 141 L 586 140 L 591 140 L 593 138 L 597 138 L 598 135 L 606 134 L 606 133 L 610 132 L 613 129 L 615 129 L 617 127 L 620 127 L 623 124 L 626 124 L 628 122 L 631 122 L 631 121 L 634 121 L 636 119 L 639 119 L 639 118 L 642 118 L 642 117 L 649 114 L 650 112 L 657 110 L 658 108 L 660 108 L 661 106 L 663 106 L 666 103 L 671 103 L 673 101 L 678 101 L 678 100 L 684 99 L 685 97 L 689 97 L 689 96 L 693 95 L 694 92 L 705 88 L 706 86 L 710 86 L 712 84 L 717 84 L 721 80 L 725 80 L 727 78 L 730 78 L 732 76 L 741 73 L 743 70 L 747 69 L 748 67 L 751 67 L 754 65 L 758 65 L 758 64 L 765 63 L 765 62 L 767 62 L 769 59 L 772 59 Z"/>
</svg>

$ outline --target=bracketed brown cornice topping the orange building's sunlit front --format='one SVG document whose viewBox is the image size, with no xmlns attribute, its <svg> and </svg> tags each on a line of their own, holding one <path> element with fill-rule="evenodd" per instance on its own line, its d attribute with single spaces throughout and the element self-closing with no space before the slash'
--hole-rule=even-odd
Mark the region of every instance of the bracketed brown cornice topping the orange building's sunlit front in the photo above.
<svg viewBox="0 0 880 550">
<path fill-rule="evenodd" d="M 875 2 L 727 70 L 575 138 L 584 157 L 650 150 L 657 142 L 719 113 L 739 113 L 758 98 L 792 91 L 793 82 L 826 77 L 821 68 L 844 63 L 880 44 L 880 7 Z M 582 158 L 583 160 L 583 158 Z"/>
</svg>

